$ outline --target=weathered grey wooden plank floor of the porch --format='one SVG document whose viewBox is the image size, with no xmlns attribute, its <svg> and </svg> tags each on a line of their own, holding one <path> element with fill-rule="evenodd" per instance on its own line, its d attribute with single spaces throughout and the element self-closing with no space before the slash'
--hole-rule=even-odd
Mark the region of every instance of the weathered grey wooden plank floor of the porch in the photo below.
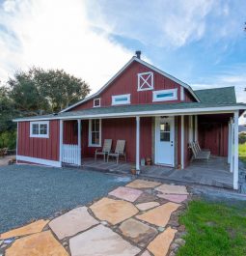
<svg viewBox="0 0 246 256">
<path fill-rule="evenodd" d="M 117 164 L 115 161 L 95 161 L 94 158 L 84 158 L 82 162 L 82 168 L 121 175 L 131 175 L 131 166 L 132 164 L 128 162 Z M 233 174 L 230 172 L 227 157 L 223 156 L 211 156 L 207 162 L 193 161 L 189 166 L 180 170 L 157 165 L 141 166 L 140 177 L 193 185 L 233 188 Z"/>
</svg>

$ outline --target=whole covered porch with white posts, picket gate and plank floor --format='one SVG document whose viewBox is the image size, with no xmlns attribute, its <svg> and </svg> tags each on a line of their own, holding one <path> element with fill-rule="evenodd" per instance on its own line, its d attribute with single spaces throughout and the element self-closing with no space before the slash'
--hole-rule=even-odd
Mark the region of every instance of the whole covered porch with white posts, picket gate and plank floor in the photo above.
<svg viewBox="0 0 246 256">
<path fill-rule="evenodd" d="M 60 161 L 119 174 L 129 174 L 134 165 L 143 177 L 237 189 L 238 116 L 236 110 L 61 120 Z M 98 120 L 96 147 L 91 145 L 93 120 Z M 162 130 L 162 125 L 165 127 L 167 122 L 170 122 L 168 129 Z M 125 140 L 127 161 L 119 164 L 95 161 L 95 151 L 102 149 L 104 139 L 113 139 L 112 150 L 118 139 Z M 157 147 L 159 141 L 168 142 L 169 148 Z M 211 157 L 208 161 L 191 161 L 189 142 L 192 141 L 199 141 L 201 147 L 209 148 Z M 172 155 L 168 154 L 170 152 Z M 170 164 L 159 163 L 157 156 L 160 154 L 171 157 Z M 148 156 L 151 165 L 142 166 Z"/>
</svg>

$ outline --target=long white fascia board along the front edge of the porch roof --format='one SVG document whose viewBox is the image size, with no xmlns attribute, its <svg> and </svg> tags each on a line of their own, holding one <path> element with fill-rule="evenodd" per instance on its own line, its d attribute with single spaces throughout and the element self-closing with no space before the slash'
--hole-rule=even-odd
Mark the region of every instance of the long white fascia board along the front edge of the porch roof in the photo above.
<svg viewBox="0 0 246 256">
<path fill-rule="evenodd" d="M 198 107 L 198 108 L 181 108 L 181 109 L 165 109 L 165 110 L 150 110 L 150 111 L 136 111 L 136 112 L 123 112 L 123 113 L 109 113 L 109 114 L 96 114 L 96 115 L 77 115 L 67 117 L 52 117 L 52 118 L 39 118 L 39 119 L 15 119 L 14 122 L 26 122 L 26 121 L 40 121 L 40 120 L 87 120 L 94 118 L 121 118 L 121 117 L 136 117 L 136 116 L 179 116 L 189 114 L 222 114 L 233 113 L 235 110 L 246 109 L 246 106 L 221 106 L 221 107 Z"/>
</svg>

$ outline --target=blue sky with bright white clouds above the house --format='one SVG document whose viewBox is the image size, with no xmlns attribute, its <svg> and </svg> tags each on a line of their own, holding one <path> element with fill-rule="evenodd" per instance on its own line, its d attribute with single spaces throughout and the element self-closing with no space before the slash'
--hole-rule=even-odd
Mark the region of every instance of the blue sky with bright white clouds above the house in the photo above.
<svg viewBox="0 0 246 256">
<path fill-rule="evenodd" d="M 59 68 L 95 92 L 136 49 L 194 89 L 246 101 L 245 0 L 0 0 L 0 79 Z"/>
</svg>

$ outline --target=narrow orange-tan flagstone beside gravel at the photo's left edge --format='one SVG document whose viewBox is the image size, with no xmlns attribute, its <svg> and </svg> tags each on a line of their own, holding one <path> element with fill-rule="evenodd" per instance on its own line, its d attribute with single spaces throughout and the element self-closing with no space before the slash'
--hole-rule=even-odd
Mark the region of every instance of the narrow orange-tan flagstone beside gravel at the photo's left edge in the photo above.
<svg viewBox="0 0 246 256">
<path fill-rule="evenodd" d="M 21 228 L 16 228 L 9 232 L 3 233 L 2 235 L 0 235 L 0 240 L 39 233 L 42 231 L 42 229 L 47 223 L 48 223 L 48 220 L 43 220 L 43 219 L 37 220 Z"/>
</svg>

